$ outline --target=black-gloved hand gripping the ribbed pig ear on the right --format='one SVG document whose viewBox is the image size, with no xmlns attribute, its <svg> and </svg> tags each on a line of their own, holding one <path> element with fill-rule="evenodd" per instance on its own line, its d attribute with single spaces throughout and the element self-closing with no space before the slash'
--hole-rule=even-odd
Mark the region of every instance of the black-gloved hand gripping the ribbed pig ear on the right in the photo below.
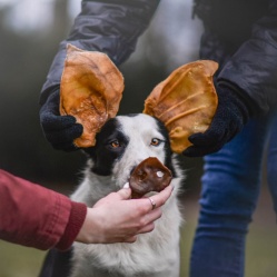
<svg viewBox="0 0 277 277">
<path fill-rule="evenodd" d="M 191 135 L 188 139 L 192 146 L 182 155 L 200 157 L 218 151 L 231 140 L 249 119 L 249 109 L 238 92 L 230 87 L 218 86 L 218 107 L 210 127 L 204 133 Z"/>
</svg>

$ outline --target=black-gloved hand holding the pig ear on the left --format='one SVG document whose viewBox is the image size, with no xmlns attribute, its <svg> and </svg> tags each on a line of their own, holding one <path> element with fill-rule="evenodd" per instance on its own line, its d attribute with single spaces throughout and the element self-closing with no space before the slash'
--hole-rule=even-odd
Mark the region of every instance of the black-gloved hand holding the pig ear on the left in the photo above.
<svg viewBox="0 0 277 277">
<path fill-rule="evenodd" d="M 81 136 L 82 126 L 72 116 L 60 116 L 60 92 L 56 89 L 40 109 L 40 122 L 47 140 L 55 149 L 72 151 L 73 140 Z"/>
</svg>

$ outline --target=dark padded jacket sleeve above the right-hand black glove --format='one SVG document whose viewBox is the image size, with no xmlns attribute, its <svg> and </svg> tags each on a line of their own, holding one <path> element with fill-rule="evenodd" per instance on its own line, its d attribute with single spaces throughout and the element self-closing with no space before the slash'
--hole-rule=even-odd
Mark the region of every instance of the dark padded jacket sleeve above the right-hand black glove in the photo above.
<svg viewBox="0 0 277 277">
<path fill-rule="evenodd" d="M 251 37 L 225 65 L 218 82 L 239 88 L 254 115 L 277 105 L 277 1 L 270 0 L 268 14 L 253 26 Z"/>
</svg>

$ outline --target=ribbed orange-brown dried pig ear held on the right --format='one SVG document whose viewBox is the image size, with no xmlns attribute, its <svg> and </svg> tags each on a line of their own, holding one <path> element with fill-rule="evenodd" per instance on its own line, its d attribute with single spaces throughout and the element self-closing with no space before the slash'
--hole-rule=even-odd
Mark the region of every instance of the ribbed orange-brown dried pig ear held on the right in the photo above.
<svg viewBox="0 0 277 277">
<path fill-rule="evenodd" d="M 146 99 L 144 112 L 165 123 L 174 152 L 191 145 L 190 135 L 208 129 L 218 103 L 212 81 L 217 69 L 218 63 L 210 60 L 181 66 Z"/>
</svg>

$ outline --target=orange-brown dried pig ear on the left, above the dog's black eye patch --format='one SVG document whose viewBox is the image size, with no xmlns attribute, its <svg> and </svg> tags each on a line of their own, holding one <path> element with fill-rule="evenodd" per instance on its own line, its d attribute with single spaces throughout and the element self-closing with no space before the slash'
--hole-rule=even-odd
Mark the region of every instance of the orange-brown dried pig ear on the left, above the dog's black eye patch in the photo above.
<svg viewBox="0 0 277 277">
<path fill-rule="evenodd" d="M 123 87 L 122 75 L 107 55 L 68 44 L 60 85 L 60 115 L 73 116 L 83 126 L 76 146 L 95 146 L 96 133 L 118 112 Z"/>
</svg>

